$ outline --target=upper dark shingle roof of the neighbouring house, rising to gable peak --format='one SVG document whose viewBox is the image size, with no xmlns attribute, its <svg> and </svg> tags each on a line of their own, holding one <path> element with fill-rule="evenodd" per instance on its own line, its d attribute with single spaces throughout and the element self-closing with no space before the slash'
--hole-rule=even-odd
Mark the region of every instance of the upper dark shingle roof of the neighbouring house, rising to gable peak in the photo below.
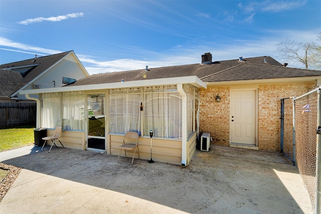
<svg viewBox="0 0 321 214">
<path fill-rule="evenodd" d="M 12 62 L 7 64 L 0 65 L 0 69 L 9 69 L 13 67 L 21 67 L 21 66 L 28 66 L 28 65 L 34 65 L 29 71 L 23 74 L 23 78 L 20 81 L 20 84 L 16 85 L 16 88 L 13 89 L 13 93 L 18 91 L 21 87 L 28 84 L 30 81 L 35 79 L 37 76 L 39 76 L 42 72 L 50 68 L 52 65 L 54 65 L 56 62 L 58 62 L 60 59 L 65 57 L 67 54 L 69 54 L 72 51 L 67 51 L 64 53 L 59 54 L 53 54 L 49 56 L 42 56 L 38 58 L 32 58 L 27 59 L 19 62 Z M 3 79 L 3 70 L 0 70 L 1 73 L 1 79 Z M 14 80 L 9 80 L 14 81 Z M 0 88 L 7 87 L 7 85 L 0 85 Z M 6 89 L 1 89 L 6 90 Z"/>
</svg>

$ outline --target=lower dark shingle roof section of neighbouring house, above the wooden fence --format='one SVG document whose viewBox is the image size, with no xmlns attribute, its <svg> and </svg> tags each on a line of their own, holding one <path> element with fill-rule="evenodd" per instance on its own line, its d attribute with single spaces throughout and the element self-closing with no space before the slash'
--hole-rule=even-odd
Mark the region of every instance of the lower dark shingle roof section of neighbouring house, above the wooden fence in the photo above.
<svg viewBox="0 0 321 214">
<path fill-rule="evenodd" d="M 20 85 L 23 77 L 18 71 L 1 69 L 0 72 L 0 85 L 2 85 L 0 86 L 0 97 L 10 98 L 10 95 L 16 91 L 17 85 Z"/>
</svg>

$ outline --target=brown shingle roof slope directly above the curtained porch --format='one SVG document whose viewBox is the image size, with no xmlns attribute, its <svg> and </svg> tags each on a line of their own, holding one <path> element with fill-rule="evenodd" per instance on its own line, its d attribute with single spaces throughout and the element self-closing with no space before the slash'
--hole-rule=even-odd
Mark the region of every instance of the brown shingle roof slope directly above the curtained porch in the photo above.
<svg viewBox="0 0 321 214">
<path fill-rule="evenodd" d="M 264 62 L 265 59 L 265 62 Z M 242 64 L 254 63 L 254 64 L 264 64 L 264 65 L 274 65 L 281 67 L 282 64 L 269 56 L 254 57 L 254 58 L 244 58 L 243 61 L 236 60 L 226 60 L 226 61 L 216 61 L 211 64 L 191 64 L 191 65 L 179 65 L 179 66 L 169 66 L 160 68 L 150 68 L 148 71 L 145 69 L 131 70 L 131 71 L 121 71 L 113 73 L 103 73 L 94 74 L 83 79 L 79 79 L 70 85 L 90 85 L 90 84 L 100 84 L 100 83 L 112 83 L 120 82 L 122 79 L 124 81 L 134 81 L 134 80 L 144 80 L 144 79 L 159 79 L 159 78 L 171 78 L 171 77 L 181 77 L 181 76 L 198 76 L 203 78 L 205 76 L 217 73 L 222 70 L 229 69 L 234 66 L 239 66 Z M 68 86 L 68 85 L 67 85 Z"/>
</svg>

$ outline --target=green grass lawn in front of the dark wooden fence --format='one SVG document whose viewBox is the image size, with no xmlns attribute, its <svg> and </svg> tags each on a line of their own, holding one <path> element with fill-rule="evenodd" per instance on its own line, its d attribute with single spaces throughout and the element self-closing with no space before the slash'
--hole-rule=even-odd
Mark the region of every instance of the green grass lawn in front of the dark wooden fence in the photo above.
<svg viewBox="0 0 321 214">
<path fill-rule="evenodd" d="M 34 126 L 17 126 L 0 129 L 0 152 L 33 145 Z"/>
</svg>

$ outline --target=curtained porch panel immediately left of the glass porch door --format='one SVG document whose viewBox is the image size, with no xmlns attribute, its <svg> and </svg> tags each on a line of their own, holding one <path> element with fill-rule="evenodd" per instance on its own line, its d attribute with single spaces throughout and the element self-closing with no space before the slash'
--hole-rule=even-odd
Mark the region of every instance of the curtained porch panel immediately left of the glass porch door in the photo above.
<svg viewBox="0 0 321 214">
<path fill-rule="evenodd" d="M 85 130 L 85 97 L 83 91 L 64 92 L 62 94 L 63 121 L 65 130 Z"/>
</svg>

